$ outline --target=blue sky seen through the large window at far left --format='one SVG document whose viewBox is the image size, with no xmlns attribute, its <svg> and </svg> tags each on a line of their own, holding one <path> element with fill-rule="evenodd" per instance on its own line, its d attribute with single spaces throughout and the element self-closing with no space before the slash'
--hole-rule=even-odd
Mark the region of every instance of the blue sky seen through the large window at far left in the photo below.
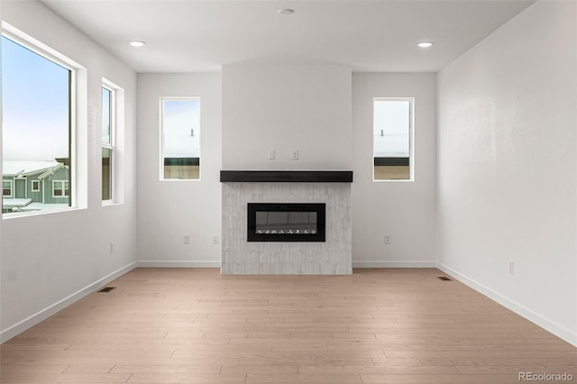
<svg viewBox="0 0 577 384">
<path fill-rule="evenodd" d="M 4 160 L 69 157 L 69 74 L 2 37 Z"/>
</svg>

